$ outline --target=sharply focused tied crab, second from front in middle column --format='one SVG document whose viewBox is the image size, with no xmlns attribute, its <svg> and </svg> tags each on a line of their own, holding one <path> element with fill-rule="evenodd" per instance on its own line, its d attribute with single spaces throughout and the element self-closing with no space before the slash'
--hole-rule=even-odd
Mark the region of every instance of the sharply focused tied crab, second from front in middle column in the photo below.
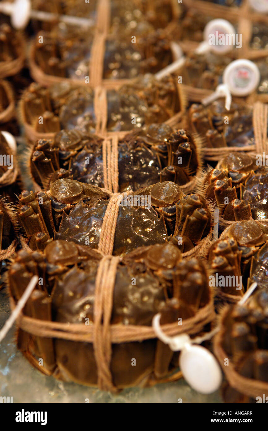
<svg viewBox="0 0 268 431">
<path fill-rule="evenodd" d="M 203 256 L 210 245 L 209 206 L 197 194 L 185 195 L 172 181 L 112 194 L 70 178 L 55 178 L 47 192 L 23 191 L 19 202 L 18 218 L 32 250 L 61 239 L 123 256 L 169 240 L 184 256 Z"/>
</svg>

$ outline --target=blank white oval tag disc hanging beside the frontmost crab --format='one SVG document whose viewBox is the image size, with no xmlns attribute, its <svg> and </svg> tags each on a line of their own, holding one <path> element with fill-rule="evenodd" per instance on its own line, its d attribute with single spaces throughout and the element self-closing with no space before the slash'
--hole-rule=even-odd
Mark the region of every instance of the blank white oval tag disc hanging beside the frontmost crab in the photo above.
<svg viewBox="0 0 268 431">
<path fill-rule="evenodd" d="M 202 346 L 185 344 L 179 367 L 187 383 L 200 394 L 212 394 L 222 383 L 222 372 L 215 356 Z"/>
</svg>

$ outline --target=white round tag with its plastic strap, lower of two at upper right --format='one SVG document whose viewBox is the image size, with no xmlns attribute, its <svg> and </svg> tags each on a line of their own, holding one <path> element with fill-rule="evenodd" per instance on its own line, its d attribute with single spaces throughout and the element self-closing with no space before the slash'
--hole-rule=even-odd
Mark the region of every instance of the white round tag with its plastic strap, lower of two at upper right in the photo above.
<svg viewBox="0 0 268 431">
<path fill-rule="evenodd" d="M 231 95 L 248 96 L 259 85 L 259 68 L 250 60 L 234 60 L 226 67 L 222 75 L 223 84 L 218 85 L 215 92 L 202 100 L 203 105 L 208 105 L 219 97 L 225 97 L 225 108 L 231 108 Z"/>
</svg>

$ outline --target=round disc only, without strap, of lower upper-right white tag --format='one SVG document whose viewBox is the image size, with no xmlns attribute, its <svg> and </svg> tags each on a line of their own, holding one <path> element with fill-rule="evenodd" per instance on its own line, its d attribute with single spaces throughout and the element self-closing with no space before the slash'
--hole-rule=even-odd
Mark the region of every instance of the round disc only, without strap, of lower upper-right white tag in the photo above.
<svg viewBox="0 0 268 431">
<path fill-rule="evenodd" d="M 234 60 L 226 67 L 222 80 L 234 96 L 247 96 L 258 87 L 260 71 L 250 60 Z"/>
</svg>

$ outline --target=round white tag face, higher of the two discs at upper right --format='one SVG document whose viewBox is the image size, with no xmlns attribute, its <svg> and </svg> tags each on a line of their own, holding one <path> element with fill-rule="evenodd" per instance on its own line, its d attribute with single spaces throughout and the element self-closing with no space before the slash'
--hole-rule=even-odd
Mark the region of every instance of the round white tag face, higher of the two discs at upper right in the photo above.
<svg viewBox="0 0 268 431">
<path fill-rule="evenodd" d="M 204 41 L 209 44 L 210 50 L 224 54 L 231 51 L 236 45 L 234 26 L 226 19 L 213 19 L 204 29 Z"/>
</svg>

